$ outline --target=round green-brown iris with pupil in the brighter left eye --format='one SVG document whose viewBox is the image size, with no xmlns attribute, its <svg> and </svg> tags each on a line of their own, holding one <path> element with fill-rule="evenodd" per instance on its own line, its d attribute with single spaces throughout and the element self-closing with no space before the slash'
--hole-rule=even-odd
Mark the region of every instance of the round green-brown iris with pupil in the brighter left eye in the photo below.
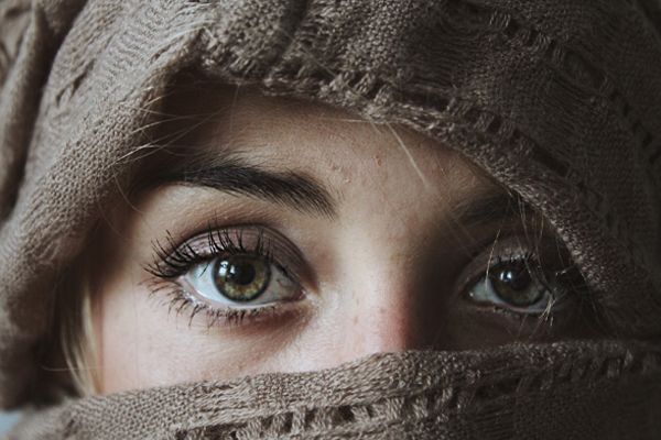
<svg viewBox="0 0 661 440">
<path fill-rule="evenodd" d="M 262 258 L 235 255 L 218 260 L 213 266 L 218 292 L 237 302 L 258 298 L 271 283 L 271 267 Z"/>
</svg>

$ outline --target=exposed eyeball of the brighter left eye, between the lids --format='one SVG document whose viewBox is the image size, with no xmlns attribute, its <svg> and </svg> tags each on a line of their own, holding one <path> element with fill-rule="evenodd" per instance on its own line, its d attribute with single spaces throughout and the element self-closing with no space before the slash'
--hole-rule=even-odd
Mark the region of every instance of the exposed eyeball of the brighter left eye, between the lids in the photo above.
<svg viewBox="0 0 661 440">
<path fill-rule="evenodd" d="M 197 299 L 234 308 L 299 300 L 303 296 L 299 283 L 260 255 L 218 256 L 193 266 L 180 284 Z"/>
</svg>

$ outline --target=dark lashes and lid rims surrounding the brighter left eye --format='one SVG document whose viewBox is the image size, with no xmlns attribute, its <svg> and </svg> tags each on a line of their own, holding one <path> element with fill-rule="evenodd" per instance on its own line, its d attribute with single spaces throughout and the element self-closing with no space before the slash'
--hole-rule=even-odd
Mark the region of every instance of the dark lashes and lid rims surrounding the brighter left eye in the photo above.
<svg viewBox="0 0 661 440">
<path fill-rule="evenodd" d="M 257 241 L 252 246 L 245 245 L 245 233 L 247 230 L 257 231 Z M 297 276 L 292 274 L 285 265 L 280 264 L 274 257 L 273 241 L 266 234 L 263 228 L 237 227 L 230 230 L 225 228 L 209 228 L 206 232 L 206 244 L 208 254 L 202 254 L 191 244 L 195 241 L 177 244 L 174 238 L 167 233 L 167 245 L 163 246 L 159 242 L 153 243 L 154 262 L 147 265 L 144 268 L 155 278 L 148 283 L 151 295 L 165 293 L 170 298 L 169 311 L 174 309 L 177 315 L 188 312 L 188 324 L 198 314 L 203 312 L 207 318 L 207 327 L 212 328 L 218 322 L 231 326 L 241 326 L 246 319 L 250 322 L 261 318 L 264 314 L 271 314 L 274 318 L 281 312 L 275 305 L 264 305 L 261 307 L 251 308 L 217 308 L 208 304 L 204 304 L 192 295 L 177 283 L 177 279 L 185 275 L 192 267 L 198 264 L 208 263 L 219 256 L 231 255 L 251 255 L 263 258 L 269 265 L 275 265 L 284 276 L 295 283 L 299 283 Z M 201 240 L 201 235 L 197 240 Z"/>
</svg>

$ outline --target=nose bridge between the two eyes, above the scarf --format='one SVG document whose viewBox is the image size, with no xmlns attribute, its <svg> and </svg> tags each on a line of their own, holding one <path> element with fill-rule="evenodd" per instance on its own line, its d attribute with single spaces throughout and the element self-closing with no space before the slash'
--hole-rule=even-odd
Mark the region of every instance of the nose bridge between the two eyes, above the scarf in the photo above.
<svg viewBox="0 0 661 440">
<path fill-rule="evenodd" d="M 360 204 L 334 243 L 342 261 L 339 278 L 347 289 L 340 293 L 345 318 L 338 354 L 343 361 L 422 349 L 433 341 L 434 329 L 425 328 L 420 315 L 429 315 L 424 258 L 429 243 L 435 241 L 436 206 L 432 201 L 412 205 L 411 194 L 426 194 L 419 188 L 421 184 L 391 177 L 384 183 L 388 197 L 356 196 Z"/>
</svg>

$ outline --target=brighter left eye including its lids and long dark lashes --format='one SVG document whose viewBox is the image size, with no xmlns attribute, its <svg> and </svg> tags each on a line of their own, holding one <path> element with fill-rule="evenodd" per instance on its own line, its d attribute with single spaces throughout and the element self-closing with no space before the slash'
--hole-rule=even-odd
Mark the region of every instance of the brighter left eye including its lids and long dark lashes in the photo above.
<svg viewBox="0 0 661 440">
<path fill-rule="evenodd" d="M 301 279 L 307 266 L 297 248 L 268 228 L 217 228 L 169 248 L 155 243 L 155 262 L 147 270 L 156 278 L 152 290 L 165 290 L 171 308 L 217 320 L 240 322 L 263 310 L 280 311 L 306 298 Z M 288 308 L 289 309 L 289 308 Z M 284 309 L 282 310 L 284 311 Z"/>
</svg>

